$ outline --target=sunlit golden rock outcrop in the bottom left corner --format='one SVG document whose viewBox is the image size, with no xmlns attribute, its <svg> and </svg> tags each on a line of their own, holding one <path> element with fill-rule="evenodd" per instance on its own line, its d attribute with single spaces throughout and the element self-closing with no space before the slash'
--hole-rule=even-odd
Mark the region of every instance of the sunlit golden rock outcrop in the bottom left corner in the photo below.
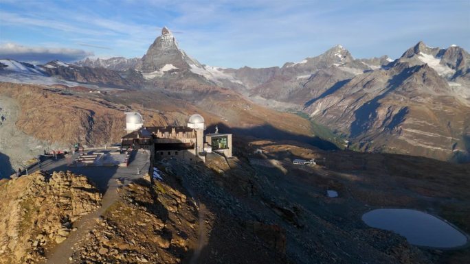
<svg viewBox="0 0 470 264">
<path fill-rule="evenodd" d="M 0 180 L 0 263 L 42 261 L 101 198 L 85 176 L 69 171 Z"/>
</svg>

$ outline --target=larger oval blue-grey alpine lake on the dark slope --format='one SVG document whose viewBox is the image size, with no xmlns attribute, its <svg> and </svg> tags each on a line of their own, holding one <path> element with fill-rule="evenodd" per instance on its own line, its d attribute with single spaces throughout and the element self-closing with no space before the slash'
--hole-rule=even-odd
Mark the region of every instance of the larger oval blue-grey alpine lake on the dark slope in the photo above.
<svg viewBox="0 0 470 264">
<path fill-rule="evenodd" d="M 467 236 L 447 221 L 417 210 L 375 209 L 364 213 L 362 220 L 373 228 L 396 232 L 413 245 L 456 248 L 467 243 Z"/>
</svg>

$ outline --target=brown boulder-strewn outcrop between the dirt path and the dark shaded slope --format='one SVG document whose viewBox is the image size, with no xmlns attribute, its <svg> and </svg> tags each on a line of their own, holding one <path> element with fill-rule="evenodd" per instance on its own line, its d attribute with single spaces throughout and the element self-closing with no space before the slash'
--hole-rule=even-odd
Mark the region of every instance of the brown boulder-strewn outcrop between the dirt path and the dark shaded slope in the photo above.
<svg viewBox="0 0 470 264">
<path fill-rule="evenodd" d="M 181 187 L 180 187 L 181 188 Z M 137 180 L 98 219 L 72 263 L 181 263 L 197 244 L 197 207 L 181 190 Z"/>
</svg>

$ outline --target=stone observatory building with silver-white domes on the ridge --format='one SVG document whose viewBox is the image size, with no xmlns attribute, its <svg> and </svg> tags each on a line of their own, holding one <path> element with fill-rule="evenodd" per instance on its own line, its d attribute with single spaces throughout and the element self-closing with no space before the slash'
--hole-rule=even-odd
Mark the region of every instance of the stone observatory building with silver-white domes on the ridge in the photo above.
<svg viewBox="0 0 470 264">
<path fill-rule="evenodd" d="M 126 122 L 127 117 L 126 114 Z M 143 120 L 142 116 L 138 117 L 140 119 L 135 119 L 137 123 Z M 208 153 L 212 152 L 227 158 L 232 157 L 232 134 L 208 134 L 205 139 L 209 142 L 205 143 L 204 131 L 205 120 L 199 114 L 190 116 L 187 126 L 136 125 L 135 130 L 122 137 L 121 147 L 148 149 L 152 159 L 177 158 L 188 162 L 205 162 Z M 212 144 L 216 145 L 212 147 Z"/>
</svg>

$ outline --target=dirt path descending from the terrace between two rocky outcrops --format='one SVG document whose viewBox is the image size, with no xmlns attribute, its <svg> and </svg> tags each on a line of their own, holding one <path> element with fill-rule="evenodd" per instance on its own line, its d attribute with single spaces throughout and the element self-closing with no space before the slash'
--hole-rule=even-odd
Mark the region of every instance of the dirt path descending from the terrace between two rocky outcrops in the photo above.
<svg viewBox="0 0 470 264">
<path fill-rule="evenodd" d="M 97 211 L 94 211 L 89 215 L 85 215 L 85 217 L 76 221 L 76 223 L 74 223 L 74 227 L 77 227 L 78 230 L 71 232 L 69 237 L 67 237 L 63 243 L 56 245 L 53 250 L 46 254 L 46 264 L 70 263 L 69 257 L 74 253 L 77 245 L 86 239 L 87 233 L 93 229 L 98 217 L 106 212 L 107 208 L 109 208 L 109 206 L 111 206 L 111 204 L 113 204 L 119 197 L 116 190 L 117 187 L 120 187 L 120 184 L 118 184 L 116 180 L 120 179 L 124 184 L 128 184 L 131 180 L 141 178 L 146 171 L 148 171 L 148 159 L 150 158 L 150 155 L 147 153 L 136 155 L 135 160 L 133 160 L 128 167 L 120 167 L 115 171 L 113 177 L 109 179 L 107 183 L 107 191 L 104 193 L 101 207 L 98 208 Z M 139 171 L 142 171 L 139 175 L 136 173 L 137 167 L 139 168 Z M 93 177 L 90 177 L 91 180 L 93 180 Z"/>
</svg>

